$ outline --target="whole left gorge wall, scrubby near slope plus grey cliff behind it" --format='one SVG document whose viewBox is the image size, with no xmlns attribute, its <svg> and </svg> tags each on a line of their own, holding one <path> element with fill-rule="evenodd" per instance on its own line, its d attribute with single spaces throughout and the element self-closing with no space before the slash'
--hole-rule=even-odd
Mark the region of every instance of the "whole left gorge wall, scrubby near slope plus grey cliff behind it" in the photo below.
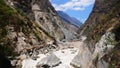
<svg viewBox="0 0 120 68">
<path fill-rule="evenodd" d="M 0 55 L 21 68 L 22 59 L 51 52 L 57 42 L 76 38 L 69 26 L 49 0 L 1 0 Z"/>
</svg>

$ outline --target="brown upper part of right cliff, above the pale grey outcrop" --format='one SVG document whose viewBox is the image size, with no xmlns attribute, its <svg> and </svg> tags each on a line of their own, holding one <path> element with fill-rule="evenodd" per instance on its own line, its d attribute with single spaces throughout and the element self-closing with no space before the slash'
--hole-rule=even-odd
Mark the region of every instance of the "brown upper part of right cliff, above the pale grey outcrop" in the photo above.
<svg viewBox="0 0 120 68">
<path fill-rule="evenodd" d="M 119 4 L 119 0 L 96 0 L 92 13 L 78 33 L 97 42 L 105 32 L 110 31 L 109 28 L 120 23 Z"/>
</svg>

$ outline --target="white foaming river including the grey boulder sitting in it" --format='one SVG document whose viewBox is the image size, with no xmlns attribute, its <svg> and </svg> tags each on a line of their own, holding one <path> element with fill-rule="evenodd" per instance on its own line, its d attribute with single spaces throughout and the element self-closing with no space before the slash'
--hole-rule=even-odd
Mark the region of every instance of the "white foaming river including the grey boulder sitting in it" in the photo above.
<svg viewBox="0 0 120 68">
<path fill-rule="evenodd" d="M 78 54 L 78 48 L 61 49 L 52 54 L 39 54 L 36 60 L 28 58 L 22 61 L 22 68 L 73 68 L 70 62 Z"/>
</svg>

